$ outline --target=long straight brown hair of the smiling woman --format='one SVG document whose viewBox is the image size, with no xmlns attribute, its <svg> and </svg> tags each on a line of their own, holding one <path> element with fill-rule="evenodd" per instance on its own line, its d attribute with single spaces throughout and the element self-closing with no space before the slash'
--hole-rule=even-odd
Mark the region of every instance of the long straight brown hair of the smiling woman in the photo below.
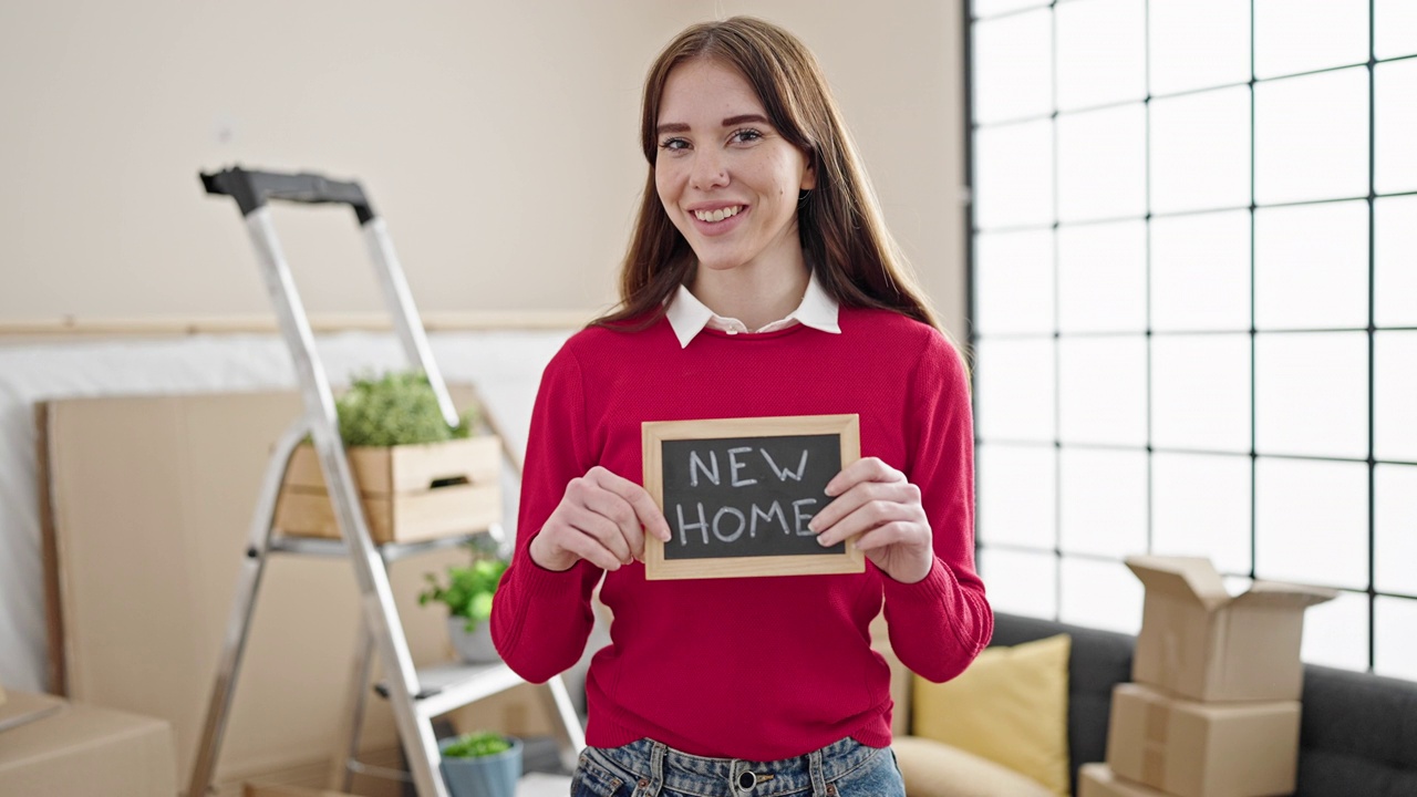
<svg viewBox="0 0 1417 797">
<path fill-rule="evenodd" d="M 694 268 L 689 241 L 665 213 L 655 187 L 655 128 L 669 74 L 693 58 L 737 69 L 772 126 L 811 160 L 816 186 L 798 201 L 798 235 L 822 288 L 843 306 L 900 312 L 944 332 L 886 230 L 880 204 L 842 113 L 812 52 L 788 31 L 752 17 L 696 24 L 680 33 L 649 69 L 640 146 L 649 173 L 629 250 L 621 265 L 621 303 L 595 325 L 653 323 L 665 301 Z M 639 326 L 639 325 L 635 325 Z"/>
</svg>

